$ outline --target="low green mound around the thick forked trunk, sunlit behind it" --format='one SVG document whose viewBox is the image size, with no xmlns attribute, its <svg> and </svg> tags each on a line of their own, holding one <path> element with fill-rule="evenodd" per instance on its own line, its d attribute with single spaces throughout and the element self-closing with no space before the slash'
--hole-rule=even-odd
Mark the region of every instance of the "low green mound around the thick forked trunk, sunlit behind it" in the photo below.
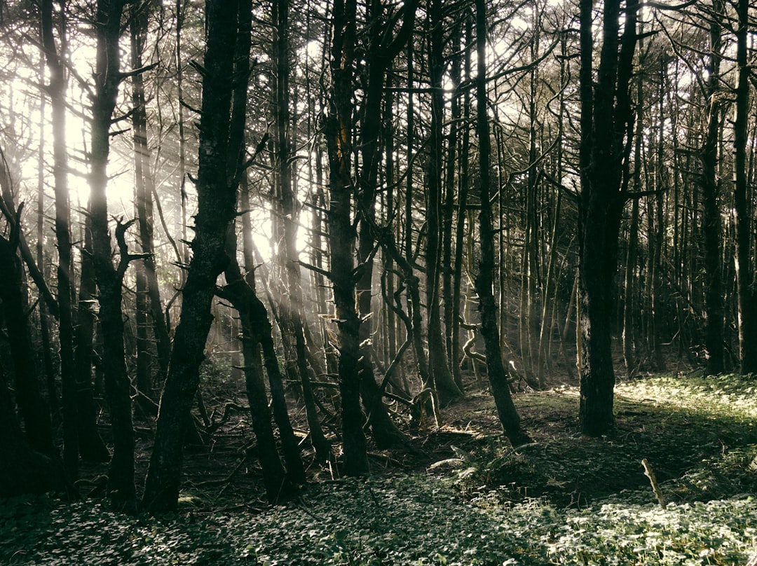
<svg viewBox="0 0 757 566">
<path fill-rule="evenodd" d="M 634 490 L 653 499 L 643 490 L 650 482 L 642 459 L 672 502 L 757 493 L 757 468 L 749 466 L 757 454 L 755 393 L 757 378 L 736 375 L 618 384 L 615 434 L 600 439 L 578 431 L 575 388 L 526 395 L 517 401 L 534 443 L 512 449 L 501 437 L 479 437 L 453 446 L 454 456 L 432 468 L 471 496 L 497 487 L 506 499 L 571 507 Z"/>
</svg>

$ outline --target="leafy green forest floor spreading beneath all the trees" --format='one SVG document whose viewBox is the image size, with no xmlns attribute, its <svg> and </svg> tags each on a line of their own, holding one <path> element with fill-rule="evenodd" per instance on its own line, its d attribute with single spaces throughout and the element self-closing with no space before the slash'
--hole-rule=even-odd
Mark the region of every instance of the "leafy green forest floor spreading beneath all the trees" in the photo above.
<svg viewBox="0 0 757 566">
<path fill-rule="evenodd" d="M 745 564 L 757 381 L 661 376 L 615 394 L 615 434 L 600 439 L 578 432 L 575 387 L 518 395 L 534 442 L 512 449 L 488 392 L 471 390 L 441 427 L 372 449 L 370 479 L 310 462 L 310 485 L 276 506 L 260 492 L 245 413 L 223 421 L 226 405 L 208 400 L 213 432 L 186 455 L 179 512 L 114 514 L 92 467 L 82 502 L 0 502 L 0 564 Z"/>
</svg>

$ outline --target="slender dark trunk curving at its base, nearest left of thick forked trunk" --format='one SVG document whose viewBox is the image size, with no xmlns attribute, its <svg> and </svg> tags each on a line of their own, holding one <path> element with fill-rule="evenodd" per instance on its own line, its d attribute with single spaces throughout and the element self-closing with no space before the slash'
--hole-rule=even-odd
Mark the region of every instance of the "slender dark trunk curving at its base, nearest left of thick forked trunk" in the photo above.
<svg viewBox="0 0 757 566">
<path fill-rule="evenodd" d="M 497 303 L 494 301 L 494 223 L 489 197 L 491 182 L 491 139 L 487 115 L 486 97 L 486 2 L 476 0 L 476 51 L 478 73 L 476 74 L 476 131 L 478 133 L 479 179 L 481 182 L 481 213 L 478 216 L 478 232 L 481 238 L 481 257 L 475 289 L 478 293 L 478 310 L 481 313 L 481 336 L 486 345 L 486 367 L 491 385 L 491 394 L 497 406 L 505 435 L 512 446 L 531 441 L 521 428 L 520 416 L 512 403 L 507 369 L 502 361 L 500 330 L 497 328 Z"/>
</svg>

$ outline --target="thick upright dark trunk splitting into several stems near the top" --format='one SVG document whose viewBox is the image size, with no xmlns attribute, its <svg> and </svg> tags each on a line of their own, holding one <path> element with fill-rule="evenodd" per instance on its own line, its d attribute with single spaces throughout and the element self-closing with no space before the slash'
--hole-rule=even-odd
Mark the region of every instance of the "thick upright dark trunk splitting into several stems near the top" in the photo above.
<svg viewBox="0 0 757 566">
<path fill-rule="evenodd" d="M 601 436 L 612 431 L 615 370 L 612 365 L 612 314 L 621 212 L 621 189 L 633 116 L 628 85 L 637 42 L 636 0 L 625 6 L 620 42 L 620 1 L 603 7 L 603 45 L 593 85 L 590 0 L 581 0 L 581 194 L 579 196 L 580 272 L 578 285 L 578 369 L 581 379 L 581 431 Z M 618 44 L 620 49 L 618 50 Z"/>
</svg>

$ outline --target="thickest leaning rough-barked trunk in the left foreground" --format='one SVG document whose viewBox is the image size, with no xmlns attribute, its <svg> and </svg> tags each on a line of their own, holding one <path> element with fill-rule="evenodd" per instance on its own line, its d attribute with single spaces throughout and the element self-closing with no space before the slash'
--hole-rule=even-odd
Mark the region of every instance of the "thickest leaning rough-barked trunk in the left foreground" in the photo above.
<svg viewBox="0 0 757 566">
<path fill-rule="evenodd" d="M 235 216 L 236 167 L 228 169 L 234 88 L 238 0 L 206 2 L 207 45 L 201 70 L 202 111 L 196 183 L 193 257 L 182 291 L 182 311 L 164 392 L 142 502 L 151 512 L 176 509 L 183 459 L 183 434 L 199 384 L 205 341 L 213 323 L 210 306 L 216 279 L 228 265 L 226 234 Z M 235 163 L 235 160 L 232 160 Z"/>
</svg>

